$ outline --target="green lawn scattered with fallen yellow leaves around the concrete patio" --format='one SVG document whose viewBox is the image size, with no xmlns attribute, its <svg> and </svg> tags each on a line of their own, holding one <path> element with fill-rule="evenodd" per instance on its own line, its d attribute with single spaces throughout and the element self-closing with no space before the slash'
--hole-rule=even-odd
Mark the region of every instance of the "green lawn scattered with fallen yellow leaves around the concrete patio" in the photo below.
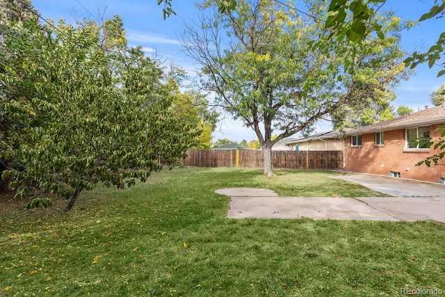
<svg viewBox="0 0 445 297">
<path fill-rule="evenodd" d="M 435 222 L 228 219 L 218 188 L 281 196 L 378 193 L 334 172 L 177 168 L 145 184 L 0 209 L 0 296 L 400 296 L 445 291 Z"/>
</svg>

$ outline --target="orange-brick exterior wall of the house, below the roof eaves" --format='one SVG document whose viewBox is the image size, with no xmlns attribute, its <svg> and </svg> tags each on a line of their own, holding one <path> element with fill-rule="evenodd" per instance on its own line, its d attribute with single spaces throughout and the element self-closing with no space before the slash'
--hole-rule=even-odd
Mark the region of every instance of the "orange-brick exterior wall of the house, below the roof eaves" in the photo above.
<svg viewBox="0 0 445 297">
<path fill-rule="evenodd" d="M 430 136 L 433 141 L 439 138 L 437 125 L 430 126 Z M 345 170 L 352 172 L 370 173 L 375 175 L 390 175 L 390 172 L 400 172 L 401 177 L 416 179 L 424 182 L 439 182 L 445 178 L 445 160 L 438 165 L 431 164 L 416 166 L 416 163 L 436 154 L 430 147 L 428 150 L 404 150 L 405 129 L 385 131 L 384 145 L 375 145 L 375 134 L 362 134 L 362 146 L 353 147 L 351 137 L 345 140 Z"/>
</svg>

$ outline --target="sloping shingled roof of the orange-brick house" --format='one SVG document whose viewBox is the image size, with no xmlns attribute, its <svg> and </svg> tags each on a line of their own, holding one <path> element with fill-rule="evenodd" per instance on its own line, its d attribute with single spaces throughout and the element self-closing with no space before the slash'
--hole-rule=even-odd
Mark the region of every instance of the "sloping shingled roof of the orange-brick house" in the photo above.
<svg viewBox="0 0 445 297">
<path fill-rule="evenodd" d="M 445 123 L 445 109 L 444 106 L 435 106 L 416 113 L 410 113 L 402 117 L 386 120 L 385 122 L 378 122 L 373 125 L 351 129 L 346 132 L 347 135 L 366 134 L 378 131 L 389 131 L 408 127 L 418 127 L 421 125 L 433 125 Z"/>
</svg>

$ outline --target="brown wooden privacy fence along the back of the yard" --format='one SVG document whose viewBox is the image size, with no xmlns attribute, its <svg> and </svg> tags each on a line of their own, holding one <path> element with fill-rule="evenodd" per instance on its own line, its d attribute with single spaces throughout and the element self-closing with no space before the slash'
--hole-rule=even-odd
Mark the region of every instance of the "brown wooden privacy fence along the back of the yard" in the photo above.
<svg viewBox="0 0 445 297">
<path fill-rule="evenodd" d="M 188 150 L 184 166 L 263 168 L 261 150 Z M 273 168 L 339 169 L 341 151 L 272 151 Z"/>
</svg>

